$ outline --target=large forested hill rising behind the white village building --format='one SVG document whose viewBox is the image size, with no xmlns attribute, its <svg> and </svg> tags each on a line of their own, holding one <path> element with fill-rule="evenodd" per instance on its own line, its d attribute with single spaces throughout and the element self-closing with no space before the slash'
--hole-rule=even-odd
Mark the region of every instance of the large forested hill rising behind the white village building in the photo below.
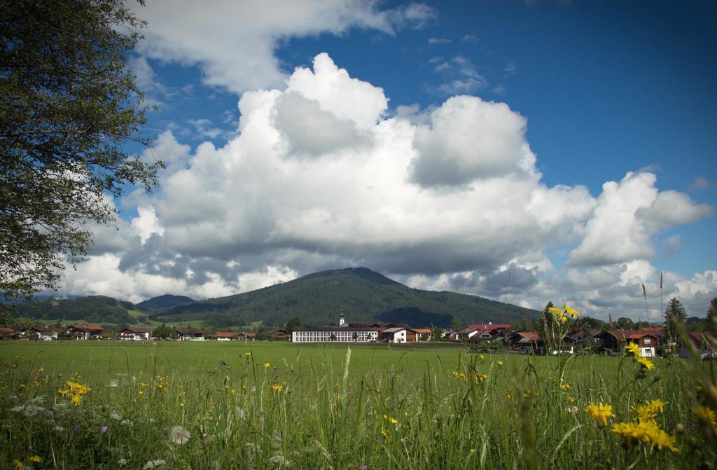
<svg viewBox="0 0 717 470">
<path fill-rule="evenodd" d="M 286 283 L 219 299 L 158 309 L 157 321 L 204 319 L 228 326 L 262 321 L 280 326 L 293 316 L 303 324 L 336 324 L 343 309 L 346 321 L 394 321 L 412 326 L 449 326 L 452 316 L 462 324 L 505 323 L 539 312 L 478 296 L 409 288 L 368 268 L 346 268 L 308 274 Z"/>
</svg>

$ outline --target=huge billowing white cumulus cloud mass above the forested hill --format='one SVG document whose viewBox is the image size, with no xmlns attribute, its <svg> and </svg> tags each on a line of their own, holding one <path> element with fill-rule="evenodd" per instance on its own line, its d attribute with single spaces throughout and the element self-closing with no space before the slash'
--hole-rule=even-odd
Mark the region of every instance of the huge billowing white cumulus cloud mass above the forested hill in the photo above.
<svg viewBox="0 0 717 470">
<path fill-rule="evenodd" d="M 202 298 L 366 265 L 416 287 L 638 316 L 636 286 L 655 293 L 655 235 L 711 212 L 658 191 L 648 172 L 597 198 L 547 187 L 526 118 L 505 103 L 460 95 L 392 114 L 381 88 L 326 54 L 282 90 L 243 93 L 239 111 L 237 136 L 219 149 L 161 134 L 145 154 L 168 162 L 161 191 L 125 199 L 138 215 L 123 243 L 92 253 L 64 291 Z M 570 248 L 569 271 L 557 271 L 549 252 Z M 714 271 L 667 278 L 665 293 L 688 306 L 717 286 Z"/>
</svg>

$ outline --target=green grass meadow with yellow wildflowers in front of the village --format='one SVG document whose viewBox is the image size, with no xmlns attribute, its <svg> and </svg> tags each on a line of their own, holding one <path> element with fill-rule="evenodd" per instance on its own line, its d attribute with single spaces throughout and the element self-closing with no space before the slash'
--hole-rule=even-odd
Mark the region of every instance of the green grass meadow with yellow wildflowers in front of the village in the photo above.
<svg viewBox="0 0 717 470">
<path fill-rule="evenodd" d="M 710 468 L 713 362 L 635 359 L 457 344 L 0 343 L 0 466 Z"/>
</svg>

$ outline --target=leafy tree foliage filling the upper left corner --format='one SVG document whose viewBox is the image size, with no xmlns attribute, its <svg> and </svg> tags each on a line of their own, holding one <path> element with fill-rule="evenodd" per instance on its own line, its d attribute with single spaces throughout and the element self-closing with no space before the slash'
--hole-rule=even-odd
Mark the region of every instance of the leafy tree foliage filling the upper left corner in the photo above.
<svg viewBox="0 0 717 470">
<path fill-rule="evenodd" d="M 123 0 L 0 0 L 0 301 L 52 288 L 108 223 L 105 194 L 156 184 L 127 149 L 147 108 L 125 52 Z"/>
</svg>

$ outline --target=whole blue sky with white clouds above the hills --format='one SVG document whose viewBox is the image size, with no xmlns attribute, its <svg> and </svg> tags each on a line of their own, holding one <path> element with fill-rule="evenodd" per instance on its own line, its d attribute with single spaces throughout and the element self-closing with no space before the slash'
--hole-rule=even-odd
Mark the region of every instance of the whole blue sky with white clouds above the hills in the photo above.
<svg viewBox="0 0 717 470">
<path fill-rule="evenodd" d="M 205 299 L 349 266 L 600 319 L 717 295 L 713 2 L 130 8 L 158 106 L 141 157 L 166 169 L 108 199 L 60 295 Z"/>
</svg>

